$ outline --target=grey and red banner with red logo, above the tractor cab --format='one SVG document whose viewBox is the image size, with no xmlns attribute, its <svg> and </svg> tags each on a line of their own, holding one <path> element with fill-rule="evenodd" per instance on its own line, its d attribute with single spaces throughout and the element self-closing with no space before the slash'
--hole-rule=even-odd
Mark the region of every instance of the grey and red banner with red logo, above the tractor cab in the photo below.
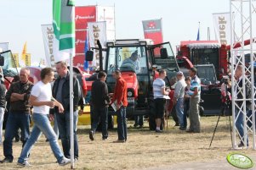
<svg viewBox="0 0 256 170">
<path fill-rule="evenodd" d="M 142 25 L 146 39 L 151 39 L 154 44 L 162 43 L 162 19 L 143 20 Z"/>
</svg>

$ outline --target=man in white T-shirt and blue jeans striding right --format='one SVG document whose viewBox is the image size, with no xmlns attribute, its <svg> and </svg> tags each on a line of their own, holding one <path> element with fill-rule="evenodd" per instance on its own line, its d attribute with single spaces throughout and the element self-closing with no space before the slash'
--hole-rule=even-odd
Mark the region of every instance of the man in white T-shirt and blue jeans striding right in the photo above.
<svg viewBox="0 0 256 170">
<path fill-rule="evenodd" d="M 63 153 L 60 150 L 60 145 L 58 144 L 58 138 L 48 120 L 48 112 L 50 107 L 56 106 L 58 107 L 59 112 L 64 111 L 64 108 L 60 102 L 52 98 L 50 82 L 53 80 L 54 70 L 51 68 L 44 68 L 41 71 L 41 81 L 38 81 L 31 90 L 29 103 L 31 106 L 33 106 L 32 119 L 34 122 L 34 127 L 32 129 L 31 136 L 20 153 L 17 164 L 21 167 L 31 166 L 27 162 L 28 155 L 42 132 L 47 137 L 59 165 L 64 166 L 71 162 L 70 159 L 66 159 L 65 156 L 63 156 Z M 54 115 L 52 115 L 52 118 L 54 118 Z"/>
</svg>

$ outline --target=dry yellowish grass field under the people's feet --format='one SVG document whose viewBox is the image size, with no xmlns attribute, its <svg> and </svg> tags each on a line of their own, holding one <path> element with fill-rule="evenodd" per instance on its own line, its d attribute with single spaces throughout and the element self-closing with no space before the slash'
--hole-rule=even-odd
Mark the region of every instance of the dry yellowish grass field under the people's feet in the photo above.
<svg viewBox="0 0 256 170">
<path fill-rule="evenodd" d="M 147 127 L 134 129 L 133 122 L 128 122 L 128 142 L 113 143 L 117 140 L 117 130 L 110 132 L 109 140 L 88 139 L 88 126 L 79 126 L 79 161 L 76 169 L 143 169 L 147 167 L 170 166 L 180 162 L 208 162 L 223 160 L 231 151 L 231 140 L 228 119 L 220 118 L 219 126 L 209 149 L 213 129 L 218 117 L 203 117 L 202 133 L 188 134 L 174 127 L 173 120 L 168 121 L 168 129 L 162 134 L 149 131 Z M 145 125 L 147 123 L 145 122 Z M 60 142 L 60 140 L 59 140 Z M 3 146 L 1 146 L 3 147 Z M 16 162 L 20 156 L 21 143 L 14 143 L 14 162 L 0 166 L 0 169 L 17 169 Z M 240 151 L 255 154 L 253 149 Z M 0 156 L 3 158 L 3 148 Z M 55 163 L 50 146 L 41 136 L 31 151 L 29 162 L 32 167 L 26 169 L 68 169 Z"/>
</svg>

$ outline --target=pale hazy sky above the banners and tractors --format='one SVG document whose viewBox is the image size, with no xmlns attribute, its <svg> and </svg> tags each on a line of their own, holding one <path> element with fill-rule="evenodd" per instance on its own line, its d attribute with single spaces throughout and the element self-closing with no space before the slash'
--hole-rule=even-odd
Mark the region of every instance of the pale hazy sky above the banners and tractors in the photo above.
<svg viewBox="0 0 256 170">
<path fill-rule="evenodd" d="M 0 0 L 0 42 L 8 41 L 12 52 L 27 52 L 32 63 L 44 58 L 41 25 L 52 22 L 52 0 Z M 122 38 L 143 38 L 141 20 L 162 18 L 163 39 L 176 51 L 180 41 L 196 40 L 200 21 L 201 40 L 215 39 L 213 13 L 228 12 L 229 0 L 77 0 L 77 6 L 115 6 L 116 35 Z"/>
</svg>

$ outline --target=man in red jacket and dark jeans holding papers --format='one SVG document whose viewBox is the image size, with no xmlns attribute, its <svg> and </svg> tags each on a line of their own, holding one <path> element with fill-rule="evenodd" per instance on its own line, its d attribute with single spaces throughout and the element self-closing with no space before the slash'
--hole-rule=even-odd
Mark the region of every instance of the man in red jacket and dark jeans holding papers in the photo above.
<svg viewBox="0 0 256 170">
<path fill-rule="evenodd" d="M 127 98 L 127 83 L 122 79 L 120 70 L 116 70 L 112 74 L 116 81 L 114 93 L 112 96 L 112 103 L 117 104 L 117 143 L 123 143 L 127 141 L 127 124 L 126 124 L 126 107 L 128 106 Z"/>
</svg>

